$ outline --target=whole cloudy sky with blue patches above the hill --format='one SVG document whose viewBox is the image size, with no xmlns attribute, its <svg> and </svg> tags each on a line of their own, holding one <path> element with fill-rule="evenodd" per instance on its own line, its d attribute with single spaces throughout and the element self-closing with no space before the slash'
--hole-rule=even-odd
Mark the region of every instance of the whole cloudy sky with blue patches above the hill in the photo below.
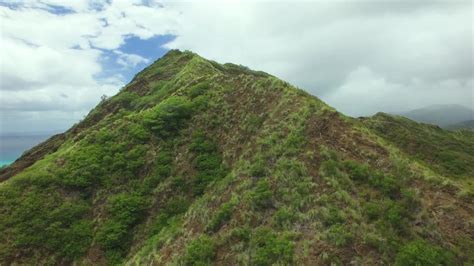
<svg viewBox="0 0 474 266">
<path fill-rule="evenodd" d="M 0 16 L 0 134 L 71 127 L 169 49 L 352 116 L 474 105 L 470 0 L 0 0 Z"/>
</svg>

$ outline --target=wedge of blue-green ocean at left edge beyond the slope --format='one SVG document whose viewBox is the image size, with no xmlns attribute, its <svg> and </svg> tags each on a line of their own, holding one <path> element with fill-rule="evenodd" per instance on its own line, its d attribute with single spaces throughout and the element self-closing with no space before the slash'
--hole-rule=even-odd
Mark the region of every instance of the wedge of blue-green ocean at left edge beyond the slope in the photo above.
<svg viewBox="0 0 474 266">
<path fill-rule="evenodd" d="M 23 152 L 45 141 L 52 135 L 53 133 L 0 136 L 0 167 L 11 164 L 18 159 Z"/>
</svg>

